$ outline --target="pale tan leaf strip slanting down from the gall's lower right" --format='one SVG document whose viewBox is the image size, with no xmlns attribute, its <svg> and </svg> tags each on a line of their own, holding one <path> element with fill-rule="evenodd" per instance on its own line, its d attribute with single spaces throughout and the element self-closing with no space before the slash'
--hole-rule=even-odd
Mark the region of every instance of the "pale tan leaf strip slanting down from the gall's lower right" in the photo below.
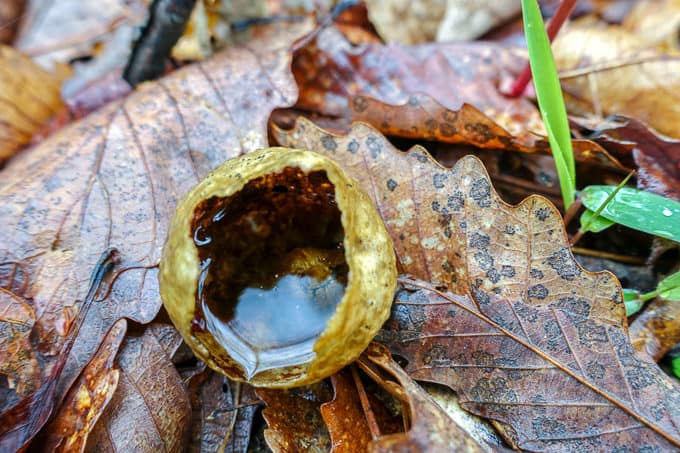
<svg viewBox="0 0 680 453">
<path fill-rule="evenodd" d="M 383 385 L 408 406 L 410 420 L 409 430 L 405 433 L 374 439 L 371 442 L 372 452 L 486 451 L 406 374 L 384 346 L 369 345 L 359 359 L 359 364 L 368 371 L 370 366 L 366 362 L 378 365 L 396 379 L 396 383 L 384 381 Z"/>
</svg>

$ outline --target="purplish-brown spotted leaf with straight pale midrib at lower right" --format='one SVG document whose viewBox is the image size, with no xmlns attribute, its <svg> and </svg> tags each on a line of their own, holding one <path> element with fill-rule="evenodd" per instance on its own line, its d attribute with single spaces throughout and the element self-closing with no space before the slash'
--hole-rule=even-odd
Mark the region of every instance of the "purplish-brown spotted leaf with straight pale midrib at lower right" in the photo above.
<svg viewBox="0 0 680 453">
<path fill-rule="evenodd" d="M 379 340 L 408 360 L 415 379 L 452 388 L 461 405 L 501 422 L 522 449 L 672 449 L 680 392 L 625 331 L 567 307 L 531 306 L 436 290 L 402 279 Z M 402 336 L 404 312 L 424 310 L 422 334 Z M 443 322 L 444 313 L 456 315 Z M 401 338 L 400 338 L 401 337 Z"/>
</svg>

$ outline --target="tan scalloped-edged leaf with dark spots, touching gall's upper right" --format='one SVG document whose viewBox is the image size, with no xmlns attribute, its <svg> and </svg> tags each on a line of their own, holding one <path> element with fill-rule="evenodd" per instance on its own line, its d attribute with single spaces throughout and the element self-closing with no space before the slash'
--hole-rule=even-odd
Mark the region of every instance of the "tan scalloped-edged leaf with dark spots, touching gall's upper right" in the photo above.
<svg viewBox="0 0 680 453">
<path fill-rule="evenodd" d="M 320 137 L 329 136 L 305 119 L 295 129 L 276 134 L 283 144 L 320 153 Z M 615 277 L 589 273 L 578 265 L 559 212 L 544 198 L 533 196 L 510 206 L 493 190 L 478 159 L 466 157 L 454 168 L 444 168 L 425 149 L 400 152 L 362 123 L 355 123 L 347 135 L 332 137 L 339 150 L 357 143 L 354 153 L 328 155 L 375 202 L 394 241 L 401 272 L 446 285 L 455 294 L 475 294 L 480 303 L 493 294 L 554 306 L 572 296 L 588 301 L 591 318 L 624 325 Z M 375 158 L 368 137 L 382 150 Z M 397 183 L 394 190 L 387 187 L 390 179 Z"/>
</svg>

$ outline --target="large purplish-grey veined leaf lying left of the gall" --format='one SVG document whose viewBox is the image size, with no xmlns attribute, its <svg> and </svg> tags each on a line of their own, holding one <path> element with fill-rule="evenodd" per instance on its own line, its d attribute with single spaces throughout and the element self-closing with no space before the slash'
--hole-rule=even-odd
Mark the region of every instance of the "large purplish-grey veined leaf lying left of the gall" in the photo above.
<svg viewBox="0 0 680 453">
<path fill-rule="evenodd" d="M 290 44 L 310 28 L 308 22 L 272 26 L 248 47 L 148 84 L 3 169 L 0 283 L 4 297 L 18 297 L 36 313 L 31 346 L 21 353 L 38 358 L 43 378 L 102 251 L 117 247 L 122 259 L 111 291 L 101 291 L 106 297 L 87 314 L 61 395 L 117 319 L 154 318 L 160 300 L 153 266 L 177 199 L 225 159 L 266 145 L 269 113 L 292 104 L 297 93 Z M 30 323 L 29 312 L 22 316 Z M 12 347 L 11 337 L 0 337 L 0 350 Z M 35 381 L 30 367 L 22 373 L 16 379 Z M 0 401 L 17 398 L 15 388 L 0 387 Z"/>
</svg>

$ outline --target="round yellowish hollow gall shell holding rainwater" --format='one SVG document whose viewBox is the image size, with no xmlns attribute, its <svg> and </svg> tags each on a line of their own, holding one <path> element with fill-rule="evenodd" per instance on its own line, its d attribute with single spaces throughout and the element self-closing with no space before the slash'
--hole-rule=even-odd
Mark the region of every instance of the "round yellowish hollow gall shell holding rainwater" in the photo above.
<svg viewBox="0 0 680 453">
<path fill-rule="evenodd" d="M 159 283 L 199 359 L 292 387 L 366 348 L 389 316 L 396 260 L 371 200 L 337 164 L 268 148 L 227 161 L 180 201 Z"/>
</svg>

